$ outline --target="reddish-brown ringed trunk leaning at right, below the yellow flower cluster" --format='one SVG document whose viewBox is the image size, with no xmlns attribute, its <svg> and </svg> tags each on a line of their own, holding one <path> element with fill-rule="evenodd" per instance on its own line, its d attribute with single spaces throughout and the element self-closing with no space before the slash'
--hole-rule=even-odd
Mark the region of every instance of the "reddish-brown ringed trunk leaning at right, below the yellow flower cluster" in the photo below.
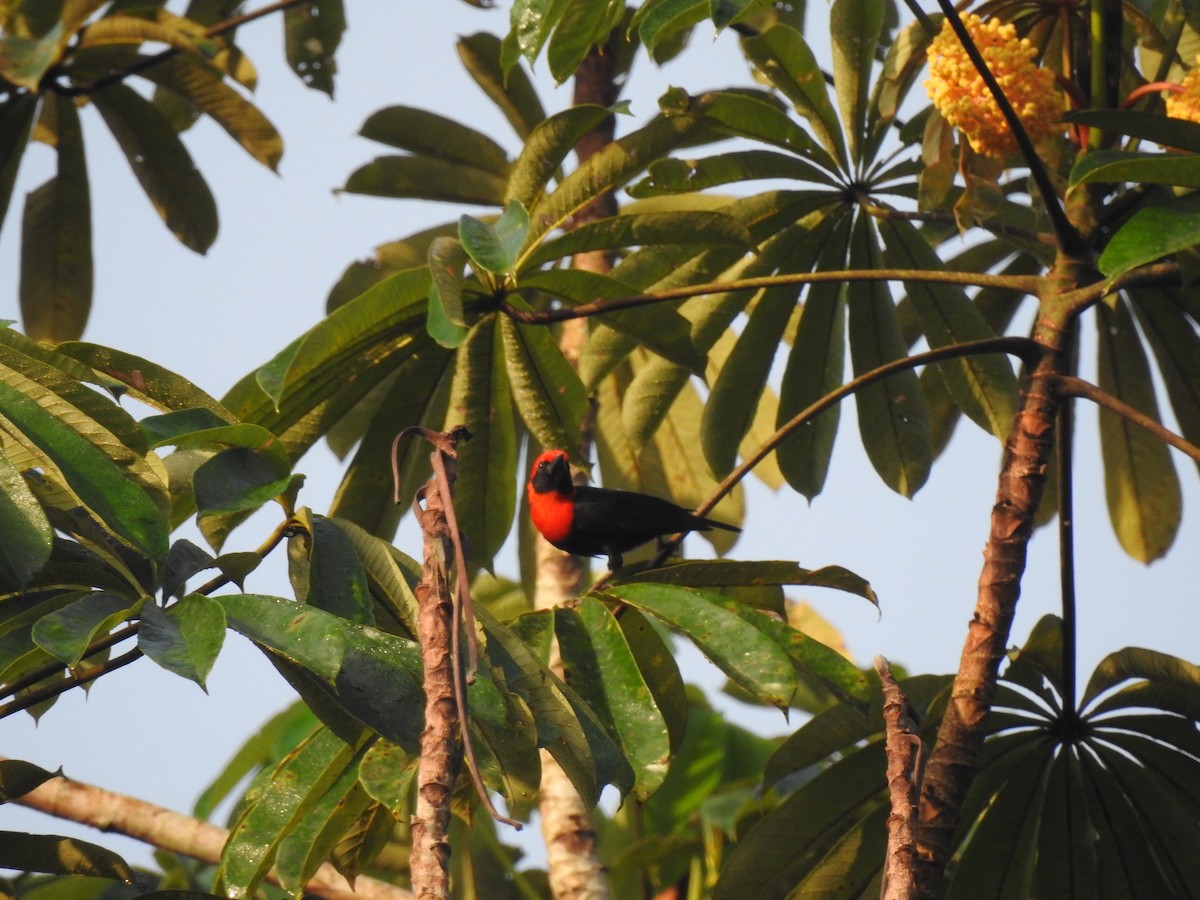
<svg viewBox="0 0 1200 900">
<path fill-rule="evenodd" d="M 1046 302 L 1043 301 L 1043 308 Z M 937 895 L 950 858 L 959 811 L 974 778 L 982 722 L 991 709 L 996 679 L 1008 647 L 1020 596 L 1033 518 L 1042 500 L 1054 445 L 1058 397 L 1055 378 L 1062 373 L 1064 323 L 1045 318 L 1039 340 L 1046 347 L 1021 395 L 1013 431 L 1004 445 L 991 527 L 974 616 L 967 626 L 950 701 L 925 772 L 920 806 L 918 896 Z"/>
</svg>

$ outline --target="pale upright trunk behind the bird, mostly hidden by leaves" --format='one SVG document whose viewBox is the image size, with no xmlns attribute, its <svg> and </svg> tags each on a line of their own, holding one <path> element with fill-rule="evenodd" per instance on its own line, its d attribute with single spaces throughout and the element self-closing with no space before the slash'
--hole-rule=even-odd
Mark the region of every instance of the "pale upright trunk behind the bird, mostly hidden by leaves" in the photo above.
<svg viewBox="0 0 1200 900">
<path fill-rule="evenodd" d="M 617 101 L 612 60 L 612 54 L 604 49 L 593 49 L 588 54 L 575 73 L 575 103 L 598 103 L 608 107 Z M 598 128 L 584 136 L 576 146 L 580 162 L 604 149 L 612 140 L 616 120 L 608 116 Z M 582 209 L 575 216 L 574 224 L 577 227 L 616 214 L 616 199 L 611 193 L 605 193 Z M 607 272 L 612 269 L 612 258 L 600 252 L 580 253 L 572 259 L 572 264 L 577 269 Z M 563 323 L 559 347 L 572 366 L 578 365 L 587 334 L 586 319 Z M 586 455 L 592 443 L 590 424 L 586 422 L 583 431 L 580 444 Z M 587 571 L 580 559 L 550 546 L 540 535 L 535 558 L 536 608 L 552 610 L 580 593 Z M 562 676 L 563 666 L 558 659 L 557 642 L 552 654 L 551 667 Z M 596 834 L 592 826 L 592 811 L 576 792 L 566 773 L 546 750 L 541 751 L 541 790 L 538 810 L 541 814 L 541 833 L 546 841 L 547 870 L 553 896 L 557 900 L 608 900 L 612 890 L 604 863 L 600 860 Z"/>
</svg>

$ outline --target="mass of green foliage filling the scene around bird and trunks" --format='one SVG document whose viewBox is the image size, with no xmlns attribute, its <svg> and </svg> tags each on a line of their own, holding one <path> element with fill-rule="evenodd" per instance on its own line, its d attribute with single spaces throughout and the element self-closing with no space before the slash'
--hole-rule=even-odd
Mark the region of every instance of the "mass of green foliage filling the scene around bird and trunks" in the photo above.
<svg viewBox="0 0 1200 900">
<path fill-rule="evenodd" d="M 998 352 L 1014 342 L 994 341 L 1010 335 L 1025 294 L 1039 301 L 1043 343 L 1043 320 L 1094 319 L 1098 386 L 1157 421 L 1162 383 L 1194 444 L 1200 308 L 1186 289 L 1200 233 L 1187 191 L 1200 184 L 1200 126 L 1092 97 L 1096 108 L 1069 120 L 1099 137 L 1058 140 L 1013 174 L 1015 160 L 967 150 L 936 110 L 895 118 L 931 34 L 900 23 L 890 4 L 833 4 L 827 77 L 803 4 L 648 0 L 626 11 L 518 0 L 506 37 L 476 34 L 457 49 L 521 149 L 510 156 L 497 136 L 409 106 L 368 116 L 360 134 L 397 152 L 359 167 L 343 191 L 472 209 L 380 245 L 378 265 L 352 265 L 328 317 L 218 401 L 148 360 L 62 341 L 79 336 L 90 308 L 89 116 L 197 252 L 215 240 L 217 214 L 181 138 L 187 127 L 209 116 L 277 167 L 282 140 L 245 96 L 253 68 L 235 29 L 220 25 L 234 6 L 194 2 L 176 16 L 161 1 L 0 4 L 0 214 L 29 140 L 55 154 L 53 176 L 23 211 L 30 337 L 0 330 L 4 713 L 42 714 L 61 690 L 137 655 L 203 689 L 232 629 L 302 703 L 253 736 L 197 803 L 206 817 L 252 778 L 215 889 L 250 895 L 274 868 L 299 895 L 326 859 L 352 880 L 372 871 L 380 850 L 409 839 L 426 702 L 422 569 L 390 544 L 430 475 L 427 445 L 406 430 L 464 425 L 454 506 L 470 557 L 455 577 L 476 595 L 479 667 L 463 727 L 485 790 L 527 817 L 540 750 L 588 805 L 613 787 L 624 805 L 596 828 L 622 896 L 684 880 L 691 895 L 714 898 L 877 890 L 889 814 L 877 685 L 811 634 L 784 593 L 823 587 L 877 604 L 870 583 L 836 565 L 659 560 L 572 605 L 532 611 L 524 588 L 479 576 L 514 532 L 523 467 L 541 448 L 578 457 L 586 434 L 606 486 L 718 504 L 714 515 L 738 522 L 745 473 L 730 476 L 751 457 L 772 487 L 810 499 L 823 490 L 848 420 L 830 400 L 853 394 L 868 458 L 911 497 L 964 418 L 1004 440 L 1014 414 L 1030 412 Z M 1174 65 L 1163 48 L 1194 43 L 1194 23 L 1177 13 L 1129 12 L 1122 84 L 1158 80 Z M 1050 50 L 1086 37 L 1064 41 L 1063 20 L 1045 11 L 1020 18 Z M 341 0 L 286 10 L 286 56 L 308 86 L 332 94 L 344 26 Z M 673 88 L 655 115 L 622 118 L 619 137 L 572 161 L 624 107 L 547 114 L 527 65 L 545 58 L 562 82 L 605 48 L 620 82 L 638 43 L 666 61 L 708 28 L 738 35 L 760 86 Z M 168 50 L 146 56 L 148 44 Z M 1057 193 L 1040 208 L 1026 199 L 1043 190 L 1040 175 L 1062 209 Z M 598 211 L 613 196 L 619 210 Z M 960 251 L 954 240 L 968 230 Z M 1051 277 L 1033 277 L 1056 254 Z M 1086 290 L 1094 271 L 1128 288 L 1064 293 L 1068 282 Z M 576 314 L 586 329 L 569 323 Z M 918 371 L 918 347 L 944 355 Z M 155 414 L 134 419 L 122 396 Z M 343 457 L 353 450 L 328 516 L 299 503 L 296 470 L 323 438 Z M 1182 517 L 1169 451 L 1111 409 L 1100 413 L 1100 449 L 1122 546 L 1144 562 L 1162 557 Z M 262 545 L 222 552 L 272 502 L 278 523 Z M 217 556 L 173 538 L 190 520 Z M 736 540 L 704 536 L 719 554 Z M 293 596 L 247 592 L 284 540 Z M 526 586 L 530 541 L 518 528 Z M 209 580 L 190 584 L 202 572 Z M 136 649 L 115 656 L 110 648 L 134 635 Z M 1004 672 L 948 896 L 1184 896 L 1200 882 L 1195 667 L 1120 650 L 1076 701 L 1064 672 L 1073 637 L 1044 619 Z M 734 696 L 812 718 L 782 742 L 731 725 L 685 686 L 676 638 Z M 947 685 L 940 676 L 904 683 L 928 742 Z M 0 794 L 16 799 L 49 776 L 2 761 Z M 512 896 L 546 893 L 540 872 L 517 870 L 466 779 L 454 811 L 462 895 L 493 895 L 500 882 Z M 7 868 L 130 880 L 122 860 L 91 845 L 0 844 Z"/>
</svg>

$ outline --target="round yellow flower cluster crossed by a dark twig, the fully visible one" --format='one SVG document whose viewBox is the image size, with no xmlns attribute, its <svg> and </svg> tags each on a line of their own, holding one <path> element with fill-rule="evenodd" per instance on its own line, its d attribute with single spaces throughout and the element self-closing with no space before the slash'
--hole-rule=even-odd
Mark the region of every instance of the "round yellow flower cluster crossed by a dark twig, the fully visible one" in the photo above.
<svg viewBox="0 0 1200 900">
<path fill-rule="evenodd" d="M 1000 19 L 984 22 L 967 13 L 962 22 L 1030 138 L 1037 143 L 1061 133 L 1062 94 L 1054 72 L 1034 65 L 1037 50 L 1028 40 L 1018 38 L 1016 29 Z M 925 90 L 937 112 L 966 134 L 976 152 L 1001 158 L 1016 152 L 1016 139 L 949 22 L 929 46 Z"/>
</svg>

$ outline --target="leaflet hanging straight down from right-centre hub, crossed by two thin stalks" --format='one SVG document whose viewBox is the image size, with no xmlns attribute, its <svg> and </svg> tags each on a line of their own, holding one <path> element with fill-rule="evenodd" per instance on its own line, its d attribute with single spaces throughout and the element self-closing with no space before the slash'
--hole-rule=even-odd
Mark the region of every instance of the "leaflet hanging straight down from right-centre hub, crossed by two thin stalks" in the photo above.
<svg viewBox="0 0 1200 900">
<path fill-rule="evenodd" d="M 859 215 L 851 244 L 851 268 L 875 269 L 880 259 L 871 223 L 865 215 Z M 888 286 L 877 281 L 851 281 L 846 295 L 854 374 L 862 376 L 905 356 L 905 341 Z M 917 376 L 911 371 L 899 372 L 859 389 L 854 397 L 858 428 L 871 466 L 888 487 L 912 497 L 929 478 L 934 455 Z"/>
</svg>

